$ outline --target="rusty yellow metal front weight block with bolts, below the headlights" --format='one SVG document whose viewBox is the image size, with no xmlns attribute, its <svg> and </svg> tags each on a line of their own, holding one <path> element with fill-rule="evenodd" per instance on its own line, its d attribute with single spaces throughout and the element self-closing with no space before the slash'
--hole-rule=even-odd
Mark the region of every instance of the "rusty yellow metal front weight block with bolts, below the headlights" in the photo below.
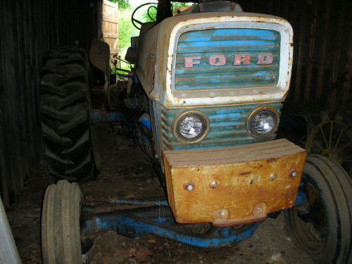
<svg viewBox="0 0 352 264">
<path fill-rule="evenodd" d="M 172 213 L 180 223 L 216 226 L 263 220 L 268 213 L 294 205 L 305 159 L 306 151 L 287 139 L 165 151 Z"/>
</svg>

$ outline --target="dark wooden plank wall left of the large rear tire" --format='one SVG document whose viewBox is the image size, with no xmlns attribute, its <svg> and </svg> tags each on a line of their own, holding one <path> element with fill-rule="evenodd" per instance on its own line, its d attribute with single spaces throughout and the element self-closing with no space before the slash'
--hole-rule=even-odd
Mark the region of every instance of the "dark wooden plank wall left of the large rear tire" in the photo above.
<svg viewBox="0 0 352 264">
<path fill-rule="evenodd" d="M 0 194 L 8 206 L 42 157 L 42 58 L 100 38 L 101 0 L 2 0 L 0 23 Z"/>
</svg>

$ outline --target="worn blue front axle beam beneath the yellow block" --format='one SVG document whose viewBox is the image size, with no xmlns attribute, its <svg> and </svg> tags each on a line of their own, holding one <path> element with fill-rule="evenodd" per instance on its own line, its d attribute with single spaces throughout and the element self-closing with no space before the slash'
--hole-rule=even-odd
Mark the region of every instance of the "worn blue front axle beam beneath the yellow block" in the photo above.
<svg viewBox="0 0 352 264">
<path fill-rule="evenodd" d="M 258 225 L 258 222 L 246 225 L 243 230 L 236 230 L 234 227 L 213 227 L 203 234 L 194 233 L 184 229 L 184 225 L 177 224 L 172 218 L 170 208 L 164 206 L 132 208 L 96 215 L 87 215 L 83 209 L 81 215 L 83 237 L 103 230 L 117 230 L 119 234 L 127 237 L 154 234 L 191 246 L 206 248 L 247 239 L 256 231 Z"/>
</svg>

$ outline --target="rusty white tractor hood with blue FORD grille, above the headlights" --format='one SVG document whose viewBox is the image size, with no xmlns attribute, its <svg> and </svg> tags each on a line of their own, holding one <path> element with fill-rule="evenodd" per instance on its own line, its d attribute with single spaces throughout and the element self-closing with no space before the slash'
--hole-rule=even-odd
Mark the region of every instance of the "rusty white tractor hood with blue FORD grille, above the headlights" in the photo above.
<svg viewBox="0 0 352 264">
<path fill-rule="evenodd" d="M 283 101 L 293 31 L 272 15 L 177 15 L 141 32 L 138 54 L 146 94 L 166 108 Z"/>
</svg>

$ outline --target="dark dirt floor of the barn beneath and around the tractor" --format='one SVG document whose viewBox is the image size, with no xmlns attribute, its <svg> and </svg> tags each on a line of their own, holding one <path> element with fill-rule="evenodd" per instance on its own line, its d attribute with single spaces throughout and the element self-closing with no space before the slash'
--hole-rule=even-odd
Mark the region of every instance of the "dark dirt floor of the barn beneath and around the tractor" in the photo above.
<svg viewBox="0 0 352 264">
<path fill-rule="evenodd" d="M 108 125 L 99 127 L 102 168 L 98 180 L 82 184 L 86 199 L 146 198 L 162 196 L 163 189 L 149 159 L 134 147 L 132 139 L 116 134 Z M 42 197 L 50 184 L 43 161 L 25 183 L 17 201 L 7 210 L 15 242 L 23 263 L 42 263 L 40 251 L 40 211 Z M 118 208 L 104 206 L 104 210 Z M 94 237 L 89 263 L 313 263 L 294 244 L 284 227 L 283 215 L 263 222 L 253 237 L 239 244 L 217 249 L 200 249 L 161 237 L 137 239 L 116 232 Z"/>
</svg>

